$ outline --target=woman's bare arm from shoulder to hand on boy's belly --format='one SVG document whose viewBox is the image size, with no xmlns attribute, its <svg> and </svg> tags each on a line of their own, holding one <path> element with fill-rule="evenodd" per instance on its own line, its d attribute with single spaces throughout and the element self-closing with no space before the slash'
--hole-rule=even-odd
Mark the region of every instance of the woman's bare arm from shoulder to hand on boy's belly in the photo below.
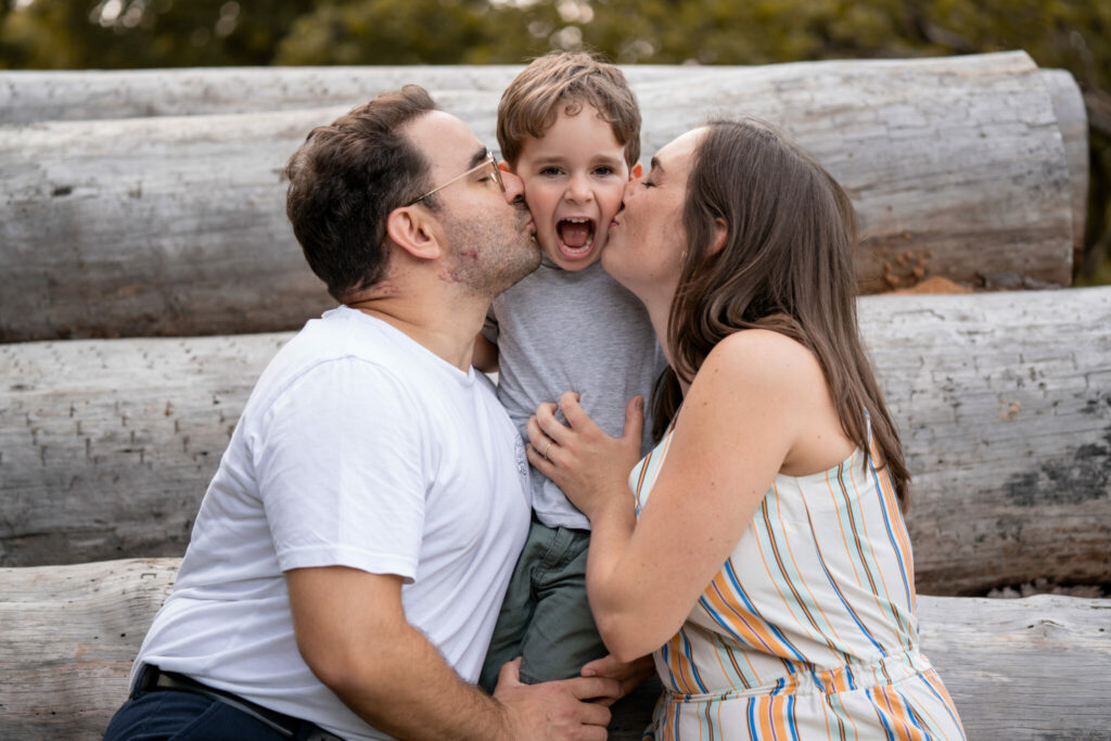
<svg viewBox="0 0 1111 741">
<path fill-rule="evenodd" d="M 817 387 L 818 394 L 814 389 Z M 801 344 L 750 330 L 719 343 L 699 370 L 647 507 L 634 520 L 624 449 L 608 438 L 573 395 L 562 408 L 570 429 L 538 410 L 529 460 L 591 520 L 587 589 L 599 632 L 618 659 L 658 649 L 682 625 L 733 550 L 775 473 L 807 430 L 824 377 Z M 639 440 L 639 437 L 635 438 Z M 838 461 L 841 459 L 837 459 Z"/>
</svg>

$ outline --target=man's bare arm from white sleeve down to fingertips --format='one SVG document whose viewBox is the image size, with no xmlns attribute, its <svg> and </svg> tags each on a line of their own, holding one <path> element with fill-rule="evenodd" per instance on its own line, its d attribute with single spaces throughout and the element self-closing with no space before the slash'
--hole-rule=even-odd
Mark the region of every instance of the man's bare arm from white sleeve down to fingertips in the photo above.
<svg viewBox="0 0 1111 741">
<path fill-rule="evenodd" d="M 524 685 L 507 664 L 494 697 L 462 681 L 406 621 L 401 578 L 343 567 L 286 573 L 306 663 L 356 714 L 400 739 L 604 739 L 605 678 Z"/>
</svg>

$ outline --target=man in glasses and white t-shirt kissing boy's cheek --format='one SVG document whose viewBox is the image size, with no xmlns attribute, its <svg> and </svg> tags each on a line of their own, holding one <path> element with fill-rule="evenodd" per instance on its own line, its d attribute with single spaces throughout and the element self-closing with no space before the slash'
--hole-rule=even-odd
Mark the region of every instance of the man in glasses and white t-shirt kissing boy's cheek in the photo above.
<svg viewBox="0 0 1111 741">
<path fill-rule="evenodd" d="M 287 210 L 343 306 L 262 373 L 106 738 L 605 738 L 618 682 L 472 684 L 529 523 L 470 368 L 540 261 L 521 183 L 409 86 L 319 127 Z"/>
</svg>

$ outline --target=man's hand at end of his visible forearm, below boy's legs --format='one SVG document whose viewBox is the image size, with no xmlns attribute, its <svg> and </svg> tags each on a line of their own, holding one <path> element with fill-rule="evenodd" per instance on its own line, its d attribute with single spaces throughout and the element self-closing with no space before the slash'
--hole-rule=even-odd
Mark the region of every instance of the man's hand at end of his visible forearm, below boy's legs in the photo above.
<svg viewBox="0 0 1111 741">
<path fill-rule="evenodd" d="M 494 700 L 506 708 L 510 739 L 604 741 L 610 711 L 588 700 L 603 698 L 613 702 L 620 698 L 621 685 L 617 680 L 577 677 L 559 682 L 523 684 L 520 671 L 520 659 L 502 667 L 493 692 Z"/>
</svg>

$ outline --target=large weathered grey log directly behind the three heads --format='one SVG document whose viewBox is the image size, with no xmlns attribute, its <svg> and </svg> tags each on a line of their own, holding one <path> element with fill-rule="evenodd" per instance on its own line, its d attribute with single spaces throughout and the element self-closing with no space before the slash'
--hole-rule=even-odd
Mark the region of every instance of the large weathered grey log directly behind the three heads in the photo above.
<svg viewBox="0 0 1111 741">
<path fill-rule="evenodd" d="M 414 68 L 409 79 L 442 81 L 443 108 L 492 144 L 511 71 Z M 99 73 L 83 74 L 96 88 Z M 397 68 L 383 74 L 401 81 Z M 449 87 L 462 82 L 472 87 Z M 1074 191 L 1087 192 L 1068 164 L 1087 140 L 1059 122 L 1082 109 L 1054 109 L 1069 82 L 1009 52 L 649 68 L 633 86 L 645 154 L 710 114 L 758 116 L 808 148 L 861 214 L 858 278 L 874 292 L 931 274 L 1068 284 Z M 286 221 L 280 172 L 311 127 L 343 110 L 0 129 L 0 341 L 276 331 L 317 316 L 330 301 Z"/>
</svg>

